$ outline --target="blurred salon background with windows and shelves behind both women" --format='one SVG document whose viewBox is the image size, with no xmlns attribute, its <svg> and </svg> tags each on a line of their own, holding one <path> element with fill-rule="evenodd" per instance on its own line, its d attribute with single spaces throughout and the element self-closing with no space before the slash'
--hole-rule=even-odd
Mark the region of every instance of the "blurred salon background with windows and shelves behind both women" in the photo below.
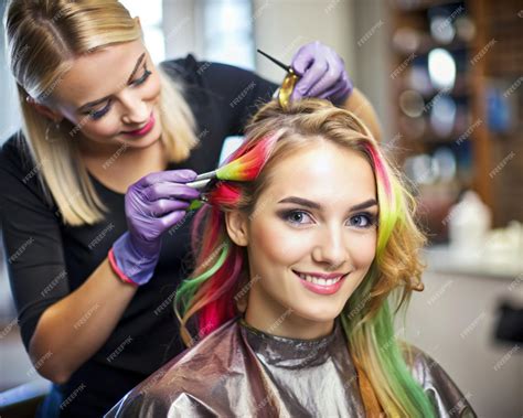
<svg viewBox="0 0 523 418">
<path fill-rule="evenodd" d="M 285 74 L 257 47 L 290 63 L 319 40 L 344 58 L 380 116 L 383 144 L 409 180 L 430 243 L 425 290 L 397 335 L 436 358 L 481 417 L 522 417 L 523 2 L 122 3 L 140 17 L 156 62 L 193 53 L 279 83 Z M 0 142 L 19 129 L 3 35 L 2 28 Z M 238 140 L 227 140 L 223 156 Z M 12 257 L 0 253 L 0 407 L 47 385 L 19 335 Z"/>
</svg>

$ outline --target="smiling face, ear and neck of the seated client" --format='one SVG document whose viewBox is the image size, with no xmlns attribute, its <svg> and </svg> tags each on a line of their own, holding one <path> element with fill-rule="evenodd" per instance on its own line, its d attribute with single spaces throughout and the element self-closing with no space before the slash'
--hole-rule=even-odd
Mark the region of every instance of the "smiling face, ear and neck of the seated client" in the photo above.
<svg viewBox="0 0 523 418">
<path fill-rule="evenodd" d="M 375 256 L 374 173 L 361 153 L 319 140 L 276 163 L 270 179 L 250 216 L 227 214 L 230 236 L 247 246 L 246 320 L 278 335 L 320 336 Z"/>
</svg>

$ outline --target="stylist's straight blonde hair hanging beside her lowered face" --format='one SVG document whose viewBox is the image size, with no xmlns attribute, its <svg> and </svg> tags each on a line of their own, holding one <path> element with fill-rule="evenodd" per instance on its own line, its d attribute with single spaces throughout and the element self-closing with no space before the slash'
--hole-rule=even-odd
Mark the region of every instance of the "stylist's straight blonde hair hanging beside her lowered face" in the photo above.
<svg viewBox="0 0 523 418">
<path fill-rule="evenodd" d="M 11 0 L 6 12 L 11 72 L 17 81 L 22 131 L 39 180 L 50 204 L 56 203 L 63 222 L 94 224 L 107 207 L 97 195 L 82 163 L 79 130 L 65 121 L 54 126 L 28 97 L 45 100 L 65 76 L 71 61 L 99 49 L 141 37 L 139 23 L 117 0 Z M 170 161 L 185 160 L 198 144 L 194 117 L 182 87 L 158 67 L 161 85 L 161 141 Z"/>
</svg>

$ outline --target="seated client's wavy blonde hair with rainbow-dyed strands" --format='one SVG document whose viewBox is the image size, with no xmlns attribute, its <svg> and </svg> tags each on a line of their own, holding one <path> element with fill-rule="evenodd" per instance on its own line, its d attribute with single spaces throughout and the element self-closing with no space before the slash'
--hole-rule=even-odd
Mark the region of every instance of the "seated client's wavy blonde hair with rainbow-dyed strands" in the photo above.
<svg viewBox="0 0 523 418">
<path fill-rule="evenodd" d="M 415 202 L 402 184 L 401 174 L 356 116 L 325 100 L 306 99 L 286 108 L 276 100 L 265 105 L 227 162 L 262 141 L 267 142 L 268 158 L 256 180 L 218 182 L 210 193 L 210 204 L 193 219 L 195 269 L 180 286 L 174 301 L 184 343 L 192 346 L 239 314 L 245 306 L 249 289 L 247 251 L 230 239 L 225 212 L 241 210 L 250 218 L 256 216 L 258 196 L 273 181 L 271 167 L 302 147 L 329 141 L 364 156 L 373 169 L 377 190 L 376 256 L 340 314 L 367 416 L 383 411 L 391 417 L 435 416 L 429 398 L 407 367 L 406 356 L 412 355 L 408 344 L 397 339 L 393 326 L 399 309 L 406 310 L 413 290 L 423 290 L 418 251 L 425 237 L 413 221 Z M 396 306 L 394 312 L 391 304 Z M 188 329 L 190 319 L 191 323 L 194 320 L 195 337 Z"/>
</svg>

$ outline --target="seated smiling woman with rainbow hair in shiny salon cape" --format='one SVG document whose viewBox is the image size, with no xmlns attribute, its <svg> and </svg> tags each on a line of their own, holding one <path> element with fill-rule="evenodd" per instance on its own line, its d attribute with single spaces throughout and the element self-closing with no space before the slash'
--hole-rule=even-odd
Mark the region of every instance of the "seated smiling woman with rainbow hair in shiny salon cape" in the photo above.
<svg viewBox="0 0 523 418">
<path fill-rule="evenodd" d="M 254 180 L 215 182 L 194 217 L 196 268 L 175 298 L 191 349 L 107 416 L 473 417 L 396 337 L 424 236 L 369 129 L 324 100 L 273 101 L 227 161 Z"/>
</svg>

